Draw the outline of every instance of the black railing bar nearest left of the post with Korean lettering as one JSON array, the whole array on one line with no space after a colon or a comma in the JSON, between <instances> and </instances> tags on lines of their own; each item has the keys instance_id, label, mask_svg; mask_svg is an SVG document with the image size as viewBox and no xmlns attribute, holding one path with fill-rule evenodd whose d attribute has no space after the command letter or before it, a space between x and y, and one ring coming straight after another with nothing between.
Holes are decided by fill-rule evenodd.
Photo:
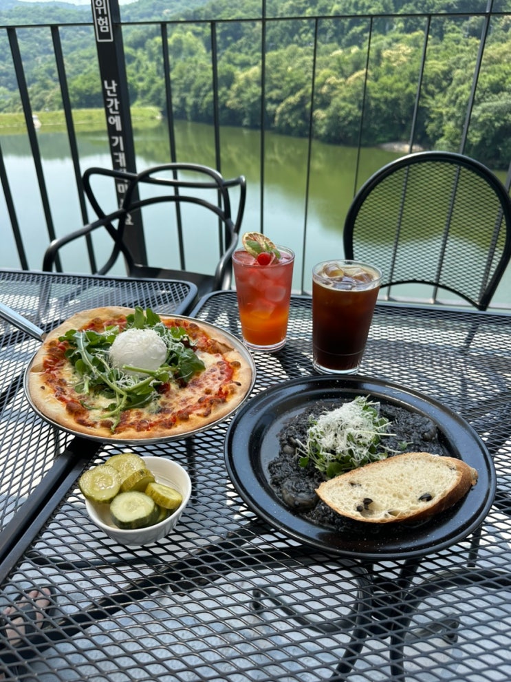
<instances>
[{"instance_id":1,"label":"black railing bar nearest left of the post with Korean lettering","mask_svg":"<svg viewBox=\"0 0 511 682\"><path fill-rule=\"evenodd\" d=\"M71 152L74 178L76 180L78 202L80 204L82 221L84 224L86 224L89 222L89 217L87 215L87 204L85 202L85 193L83 191L83 180L82 173L80 170L80 155L78 153L78 144L76 142L76 133L74 130L74 122L71 113L71 101L69 100L69 89L67 87L67 77L65 72L64 56L62 52L61 34L59 32L58 26L52 26L52 43L58 74L58 85L61 88L64 118L67 129L67 139L69 140L69 151ZM96 273L98 270L98 266L96 264L96 255L94 254L94 246L92 245L91 235L87 235L85 237L85 242L87 244L87 255L89 256L91 272Z\"/></svg>"}]
</instances>

